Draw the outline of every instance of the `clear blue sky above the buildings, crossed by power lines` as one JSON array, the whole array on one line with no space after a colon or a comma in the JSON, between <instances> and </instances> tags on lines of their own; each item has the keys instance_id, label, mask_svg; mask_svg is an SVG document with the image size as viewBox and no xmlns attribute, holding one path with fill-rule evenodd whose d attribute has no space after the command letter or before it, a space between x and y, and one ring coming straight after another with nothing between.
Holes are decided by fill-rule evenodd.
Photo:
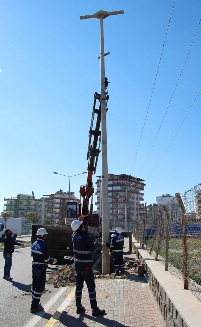
<instances>
[{"instance_id":1,"label":"clear blue sky above the buildings, crossed by power lines","mask_svg":"<svg viewBox=\"0 0 201 327\"><path fill-rule=\"evenodd\" d=\"M87 168L93 94L100 92L99 21L80 15L124 10L104 20L108 172L129 174L149 104L173 1L1 1L0 210L3 198L68 190ZM176 0L144 133L131 174L147 178L201 87L201 26L155 146L140 175L193 35L200 1ZM145 201L200 182L200 103L145 181ZM100 156L101 159L101 156ZM101 174L101 160L96 175ZM79 197L86 175L71 179ZM95 184L96 178L93 182Z\"/></svg>"}]
</instances>

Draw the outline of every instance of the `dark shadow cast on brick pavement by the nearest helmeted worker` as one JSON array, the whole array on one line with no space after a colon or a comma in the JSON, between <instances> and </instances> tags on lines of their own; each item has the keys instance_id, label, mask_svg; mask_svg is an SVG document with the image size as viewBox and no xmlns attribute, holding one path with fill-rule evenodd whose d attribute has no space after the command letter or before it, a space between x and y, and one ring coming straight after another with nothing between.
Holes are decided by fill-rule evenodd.
<instances>
[{"instance_id":1,"label":"dark shadow cast on brick pavement by the nearest helmeted worker","mask_svg":"<svg viewBox=\"0 0 201 327\"><path fill-rule=\"evenodd\" d=\"M118 327L129 327L128 325L123 325L121 324L119 321L117 320L113 320L113 319L108 319L105 318L107 314L105 314L104 316L90 316L87 315L85 313L81 314L79 318L75 318L72 317L70 315L68 315L68 313L66 311L64 311L60 318L58 319L64 326L70 326L71 323L73 323L73 325L75 326L88 326L88 324L86 324L83 319L87 318L90 319L90 323L92 322L97 322L98 324L102 324L103 326L118 326Z\"/></svg>"}]
</instances>

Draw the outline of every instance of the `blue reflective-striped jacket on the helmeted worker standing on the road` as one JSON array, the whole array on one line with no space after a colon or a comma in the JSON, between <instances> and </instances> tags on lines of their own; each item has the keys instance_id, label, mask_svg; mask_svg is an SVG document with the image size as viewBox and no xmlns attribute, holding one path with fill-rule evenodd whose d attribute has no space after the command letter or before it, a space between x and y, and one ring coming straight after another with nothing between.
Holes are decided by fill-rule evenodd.
<instances>
[{"instance_id":1,"label":"blue reflective-striped jacket on the helmeted worker standing on the road","mask_svg":"<svg viewBox=\"0 0 201 327\"><path fill-rule=\"evenodd\" d=\"M32 267L43 266L45 263L52 263L53 258L49 256L49 250L46 241L37 238L37 240L31 245L31 256L33 258Z\"/></svg>"}]
</instances>

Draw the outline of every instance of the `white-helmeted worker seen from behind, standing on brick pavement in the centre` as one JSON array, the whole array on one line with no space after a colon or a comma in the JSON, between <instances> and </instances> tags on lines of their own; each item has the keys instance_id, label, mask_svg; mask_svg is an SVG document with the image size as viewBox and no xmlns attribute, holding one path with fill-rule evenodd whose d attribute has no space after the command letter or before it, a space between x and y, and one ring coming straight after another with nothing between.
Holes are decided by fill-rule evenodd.
<instances>
[{"instance_id":1,"label":"white-helmeted worker seen from behind, standing on brick pavement in the centre","mask_svg":"<svg viewBox=\"0 0 201 327\"><path fill-rule=\"evenodd\" d=\"M105 310L100 310L97 306L96 285L92 270L92 252L96 250L97 240L94 243L92 238L85 232L85 227L82 225L82 221L74 220L71 224L71 228L73 230L72 241L74 250L74 267L76 271L75 305L77 306L77 313L85 311L81 304L82 288L85 281L89 292L92 315L104 315Z\"/></svg>"}]
</instances>

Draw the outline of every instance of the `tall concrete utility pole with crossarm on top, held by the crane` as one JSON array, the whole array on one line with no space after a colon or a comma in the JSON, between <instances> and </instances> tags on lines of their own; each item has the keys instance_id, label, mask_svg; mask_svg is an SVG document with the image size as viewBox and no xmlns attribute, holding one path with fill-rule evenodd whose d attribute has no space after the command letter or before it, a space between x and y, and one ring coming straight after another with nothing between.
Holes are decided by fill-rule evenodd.
<instances>
[{"instance_id":1,"label":"tall concrete utility pole with crossarm on top, held by the crane","mask_svg":"<svg viewBox=\"0 0 201 327\"><path fill-rule=\"evenodd\" d=\"M109 243L109 210L108 210L108 171L107 171L107 129L106 129L106 94L105 94L105 61L104 57L104 37L103 19L111 16L123 14L120 11L100 10L94 15L80 16L80 19L98 18L100 19L100 81L101 81L101 157L102 157L102 242ZM106 247L102 250L102 274L110 273L110 257Z\"/></svg>"}]
</instances>

